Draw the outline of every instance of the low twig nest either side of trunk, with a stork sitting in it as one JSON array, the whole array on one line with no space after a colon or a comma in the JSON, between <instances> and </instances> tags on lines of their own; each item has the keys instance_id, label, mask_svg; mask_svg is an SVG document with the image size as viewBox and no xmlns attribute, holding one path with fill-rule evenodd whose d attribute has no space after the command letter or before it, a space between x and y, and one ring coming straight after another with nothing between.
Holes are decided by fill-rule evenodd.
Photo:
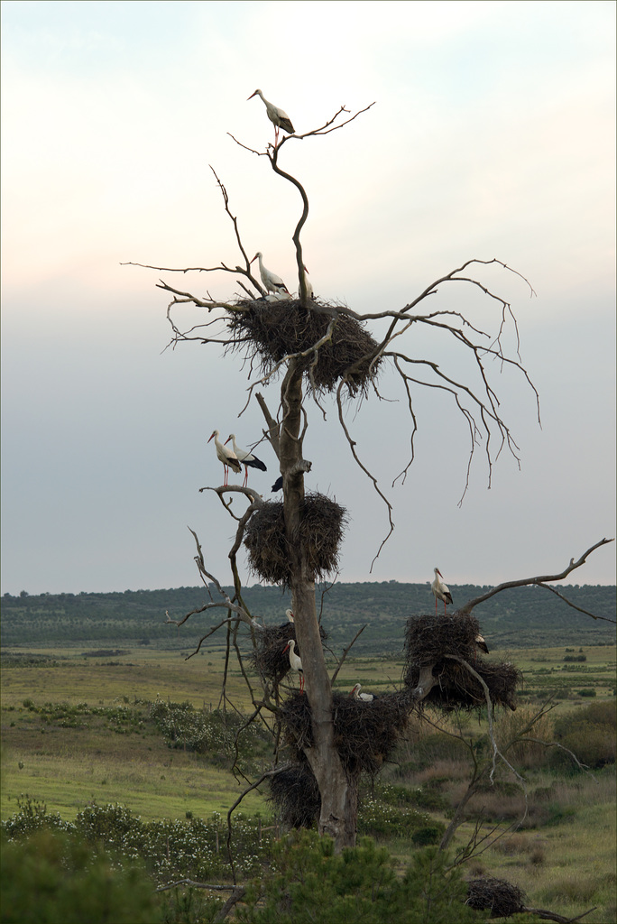
<instances>
[{"instance_id":1,"label":"low twig nest either side of trunk, with a stork sitting in it","mask_svg":"<svg viewBox=\"0 0 617 924\"><path fill-rule=\"evenodd\" d=\"M349 775L379 772L405 731L411 708L407 690L382 693L371 702L333 692L334 744ZM285 699L281 724L285 743L295 748L296 760L306 760L302 748L313 742L306 694L294 693Z\"/></svg>"}]
</instances>

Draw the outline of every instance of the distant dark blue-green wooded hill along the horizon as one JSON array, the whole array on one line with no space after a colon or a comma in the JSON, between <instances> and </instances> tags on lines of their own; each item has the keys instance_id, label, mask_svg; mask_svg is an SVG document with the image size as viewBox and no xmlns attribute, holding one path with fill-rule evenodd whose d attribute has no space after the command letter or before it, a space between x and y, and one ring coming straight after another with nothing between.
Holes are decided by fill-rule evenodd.
<instances>
[{"instance_id":1,"label":"distant dark blue-green wooded hill along the horizon","mask_svg":"<svg viewBox=\"0 0 617 924\"><path fill-rule=\"evenodd\" d=\"M230 589L227 589L230 592ZM454 604L462 603L488 587L470 584L451 586ZM590 613L615 618L614 586L578 584L560 586L576 606ZM251 614L265 623L284 622L289 597L281 590L255 585L243 591ZM216 600L216 591L212 588ZM178 619L209 602L203 587L175 590L125 590L116 593L60 593L2 600L1 638L10 646L47 647L104 644L152 645L157 648L190 649L225 616L224 609L194 614L178 631L165 625L165 611ZM318 602L318 606L320 602ZM341 650L365 623L354 646L356 655L396 655L403 646L405 621L410 615L431 613L434 601L429 583L398 581L335 584L322 598L322 623L329 646ZM591 619L560 601L548 590L525 587L504 590L474 611L491 648L526 648L558 645L612 644L615 626ZM213 646L223 636L212 639Z\"/></svg>"}]
</instances>

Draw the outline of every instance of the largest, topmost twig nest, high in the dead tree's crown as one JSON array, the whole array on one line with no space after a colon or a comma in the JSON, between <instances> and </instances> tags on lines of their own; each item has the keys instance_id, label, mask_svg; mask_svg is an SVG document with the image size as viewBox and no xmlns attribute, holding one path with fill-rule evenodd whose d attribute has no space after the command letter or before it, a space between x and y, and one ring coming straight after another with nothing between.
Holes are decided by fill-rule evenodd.
<instances>
[{"instance_id":1,"label":"largest, topmost twig nest, high in the dead tree's crown","mask_svg":"<svg viewBox=\"0 0 617 924\"><path fill-rule=\"evenodd\" d=\"M304 359L305 370L316 391L332 392L345 379L350 397L368 394L381 359L371 367L379 345L362 322L339 314L331 339L315 351L310 348L327 333L335 306L328 306L328 311L319 310L318 305L307 310L297 298L274 302L245 299L238 306L247 310L234 311L227 322L235 335L231 349L242 350L251 361L259 359L261 372L272 371L289 354L310 350Z\"/></svg>"}]
</instances>

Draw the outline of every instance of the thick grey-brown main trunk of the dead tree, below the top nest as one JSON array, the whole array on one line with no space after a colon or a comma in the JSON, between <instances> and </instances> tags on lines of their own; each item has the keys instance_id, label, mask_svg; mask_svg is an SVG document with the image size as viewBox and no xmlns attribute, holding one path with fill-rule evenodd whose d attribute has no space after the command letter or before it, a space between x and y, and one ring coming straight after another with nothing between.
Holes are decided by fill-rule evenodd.
<instances>
[{"instance_id":1,"label":"thick grey-brown main trunk of the dead tree, below the top nest","mask_svg":"<svg viewBox=\"0 0 617 924\"><path fill-rule=\"evenodd\" d=\"M315 606L315 577L298 541L304 472L302 461L302 370L292 360L282 386L284 408L280 435L284 523L291 571L296 638L302 657L306 695L312 716L313 746L305 754L321 795L319 831L334 840L335 849L356 844L357 780L348 780L334 745L333 698L321 647Z\"/></svg>"}]
</instances>

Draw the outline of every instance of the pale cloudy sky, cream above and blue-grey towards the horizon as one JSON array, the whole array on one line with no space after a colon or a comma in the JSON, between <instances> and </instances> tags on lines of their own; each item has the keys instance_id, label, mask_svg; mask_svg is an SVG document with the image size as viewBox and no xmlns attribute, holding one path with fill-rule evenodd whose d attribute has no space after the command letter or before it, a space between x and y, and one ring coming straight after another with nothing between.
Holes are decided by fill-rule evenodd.
<instances>
[{"instance_id":1,"label":"pale cloudy sky, cream above and blue-grey towards the horizon","mask_svg":"<svg viewBox=\"0 0 617 924\"><path fill-rule=\"evenodd\" d=\"M257 87L317 128L341 104L375 105L347 128L285 144L309 195L303 234L316 293L358 312L400 309L475 257L512 303L521 376L490 366L521 450L487 490L483 444L469 491L464 421L415 395L417 461L402 485L409 419L393 376L349 426L393 504L308 405L311 490L344 505L341 580L494 584L558 572L615 535L614 37L612 2L12 2L2 4L2 592L197 584L194 545L229 582L235 524L204 485L223 468L214 428L260 438L248 370L216 346L164 347L160 277L231 298L235 277L159 266L239 261L209 164L247 250L293 287L296 190L260 150L272 126ZM439 304L438 304L439 303ZM460 284L429 309L497 329L490 299ZM176 321L200 322L198 310ZM372 329L372 328L371 328ZM513 347L512 338L509 340ZM444 342L407 351L463 374ZM276 407L276 384L266 396ZM270 496L278 476L250 484ZM239 481L240 479L232 480ZM237 504L237 502L236 502ZM614 583L614 546L572 583ZM245 577L246 569L243 571ZM254 582L248 577L248 583Z\"/></svg>"}]
</instances>

